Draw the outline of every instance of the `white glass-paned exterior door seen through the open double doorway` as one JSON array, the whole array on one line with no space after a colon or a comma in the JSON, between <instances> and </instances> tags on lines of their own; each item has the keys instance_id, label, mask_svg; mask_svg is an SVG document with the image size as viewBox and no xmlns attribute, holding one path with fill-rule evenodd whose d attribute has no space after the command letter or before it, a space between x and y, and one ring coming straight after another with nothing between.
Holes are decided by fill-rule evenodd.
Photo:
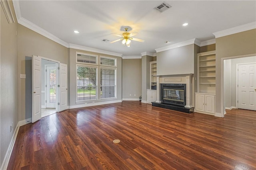
<instances>
[{"instance_id":1,"label":"white glass-paned exterior door seen through the open double doorway","mask_svg":"<svg viewBox=\"0 0 256 170\"><path fill-rule=\"evenodd\" d=\"M46 65L46 108L56 107L56 65Z\"/></svg>"}]
</instances>

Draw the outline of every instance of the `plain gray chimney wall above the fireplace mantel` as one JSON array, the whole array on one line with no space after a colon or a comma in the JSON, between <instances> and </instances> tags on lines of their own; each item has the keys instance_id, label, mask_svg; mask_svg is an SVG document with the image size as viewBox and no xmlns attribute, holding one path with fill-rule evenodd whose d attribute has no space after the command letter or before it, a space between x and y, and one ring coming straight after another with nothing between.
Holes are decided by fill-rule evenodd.
<instances>
[{"instance_id":1,"label":"plain gray chimney wall above the fireplace mantel","mask_svg":"<svg viewBox=\"0 0 256 170\"><path fill-rule=\"evenodd\" d=\"M194 44L157 53L157 75L194 74Z\"/></svg>"}]
</instances>

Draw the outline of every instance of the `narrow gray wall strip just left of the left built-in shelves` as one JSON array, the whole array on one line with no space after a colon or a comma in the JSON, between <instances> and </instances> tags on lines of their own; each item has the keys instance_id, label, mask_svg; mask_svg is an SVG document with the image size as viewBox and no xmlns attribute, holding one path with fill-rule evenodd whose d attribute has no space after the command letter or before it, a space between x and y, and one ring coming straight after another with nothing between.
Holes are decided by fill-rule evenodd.
<instances>
[{"instance_id":1,"label":"narrow gray wall strip just left of the left built-in shelves","mask_svg":"<svg viewBox=\"0 0 256 170\"><path fill-rule=\"evenodd\" d=\"M153 61L153 57L145 55L141 59L141 71L142 71L142 84L141 84L141 96L142 101L147 101L147 89L150 89L150 61Z\"/></svg>"}]
</instances>

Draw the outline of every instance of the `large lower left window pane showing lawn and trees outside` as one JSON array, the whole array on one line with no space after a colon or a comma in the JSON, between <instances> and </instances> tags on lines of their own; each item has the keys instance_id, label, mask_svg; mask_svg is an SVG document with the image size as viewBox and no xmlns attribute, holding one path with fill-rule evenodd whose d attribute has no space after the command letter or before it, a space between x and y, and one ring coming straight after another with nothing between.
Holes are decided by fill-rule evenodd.
<instances>
[{"instance_id":1,"label":"large lower left window pane showing lawn and trees outside","mask_svg":"<svg viewBox=\"0 0 256 170\"><path fill-rule=\"evenodd\" d=\"M97 99L97 68L77 66L77 101Z\"/></svg>"}]
</instances>

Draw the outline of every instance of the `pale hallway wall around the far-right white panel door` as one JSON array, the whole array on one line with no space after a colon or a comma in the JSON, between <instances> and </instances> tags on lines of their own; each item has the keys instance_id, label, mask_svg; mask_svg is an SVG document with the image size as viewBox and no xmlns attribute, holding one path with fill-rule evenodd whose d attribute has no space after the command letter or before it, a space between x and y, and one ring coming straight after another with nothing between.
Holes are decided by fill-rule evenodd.
<instances>
[{"instance_id":1,"label":"pale hallway wall around the far-right white panel door","mask_svg":"<svg viewBox=\"0 0 256 170\"><path fill-rule=\"evenodd\" d=\"M224 60L225 107L236 107L236 64L256 63L256 56Z\"/></svg>"}]
</instances>

